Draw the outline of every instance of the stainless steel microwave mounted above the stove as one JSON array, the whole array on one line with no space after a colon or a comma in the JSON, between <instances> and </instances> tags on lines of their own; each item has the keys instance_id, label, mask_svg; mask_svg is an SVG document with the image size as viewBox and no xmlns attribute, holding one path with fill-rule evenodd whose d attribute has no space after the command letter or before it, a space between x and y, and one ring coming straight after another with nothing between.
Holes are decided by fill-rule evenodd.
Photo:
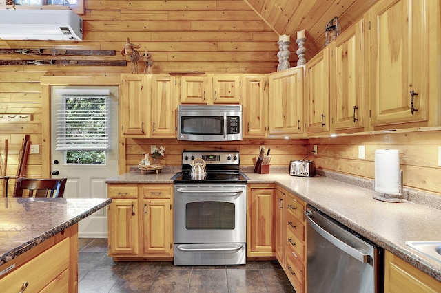
<instances>
[{"instance_id":1,"label":"stainless steel microwave mounted above the stove","mask_svg":"<svg viewBox=\"0 0 441 293\"><path fill-rule=\"evenodd\" d=\"M178 140L242 140L242 105L178 105Z\"/></svg>"}]
</instances>

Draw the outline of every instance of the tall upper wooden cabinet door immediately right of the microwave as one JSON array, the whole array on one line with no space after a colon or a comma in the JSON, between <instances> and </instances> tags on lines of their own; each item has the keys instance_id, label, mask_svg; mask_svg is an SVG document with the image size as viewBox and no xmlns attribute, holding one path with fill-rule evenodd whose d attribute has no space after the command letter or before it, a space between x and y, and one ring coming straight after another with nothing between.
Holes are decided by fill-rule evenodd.
<instances>
[{"instance_id":1,"label":"tall upper wooden cabinet door immediately right of the microwave","mask_svg":"<svg viewBox=\"0 0 441 293\"><path fill-rule=\"evenodd\" d=\"M243 136L265 138L268 125L266 76L245 74L243 79Z\"/></svg>"}]
</instances>

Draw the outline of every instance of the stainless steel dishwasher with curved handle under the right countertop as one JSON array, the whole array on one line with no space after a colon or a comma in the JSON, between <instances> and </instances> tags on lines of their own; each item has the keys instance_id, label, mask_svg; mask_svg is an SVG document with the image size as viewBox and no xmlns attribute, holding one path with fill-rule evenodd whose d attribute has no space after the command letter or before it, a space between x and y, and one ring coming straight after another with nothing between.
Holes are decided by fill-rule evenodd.
<instances>
[{"instance_id":1,"label":"stainless steel dishwasher with curved handle under the right countertop","mask_svg":"<svg viewBox=\"0 0 441 293\"><path fill-rule=\"evenodd\" d=\"M313 206L306 215L307 292L383 292L384 250Z\"/></svg>"}]
</instances>

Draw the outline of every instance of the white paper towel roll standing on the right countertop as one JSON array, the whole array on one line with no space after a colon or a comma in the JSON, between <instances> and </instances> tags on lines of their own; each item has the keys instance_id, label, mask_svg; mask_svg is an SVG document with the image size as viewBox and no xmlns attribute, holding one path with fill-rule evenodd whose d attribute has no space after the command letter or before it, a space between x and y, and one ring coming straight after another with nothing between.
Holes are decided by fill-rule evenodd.
<instances>
[{"instance_id":1,"label":"white paper towel roll standing on the right countertop","mask_svg":"<svg viewBox=\"0 0 441 293\"><path fill-rule=\"evenodd\" d=\"M400 194L400 151L376 149L375 191L390 195Z\"/></svg>"}]
</instances>

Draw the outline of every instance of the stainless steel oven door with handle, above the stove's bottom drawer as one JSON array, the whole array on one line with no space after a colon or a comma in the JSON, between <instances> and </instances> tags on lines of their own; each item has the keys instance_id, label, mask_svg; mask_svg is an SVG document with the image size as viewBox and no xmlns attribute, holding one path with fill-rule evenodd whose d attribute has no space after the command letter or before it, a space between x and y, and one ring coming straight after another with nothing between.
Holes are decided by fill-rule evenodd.
<instances>
[{"instance_id":1,"label":"stainless steel oven door with handle, above the stove's bottom drawer","mask_svg":"<svg viewBox=\"0 0 441 293\"><path fill-rule=\"evenodd\" d=\"M245 243L247 188L174 185L174 243Z\"/></svg>"}]
</instances>

